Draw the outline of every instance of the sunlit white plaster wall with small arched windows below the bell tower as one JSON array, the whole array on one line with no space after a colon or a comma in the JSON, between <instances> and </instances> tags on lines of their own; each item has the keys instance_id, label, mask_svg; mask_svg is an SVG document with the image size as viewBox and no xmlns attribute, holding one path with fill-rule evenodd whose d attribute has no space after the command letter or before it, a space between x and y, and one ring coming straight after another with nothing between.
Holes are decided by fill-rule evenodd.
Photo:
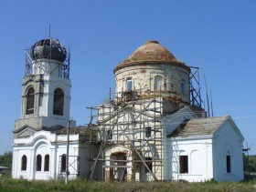
<instances>
[{"instance_id":1,"label":"sunlit white plaster wall with small arched windows below the bell tower","mask_svg":"<svg viewBox=\"0 0 256 192\"><path fill-rule=\"evenodd\" d=\"M79 168L78 161L76 161L79 154L79 136L69 136L69 178L77 177L77 170ZM42 169L36 170L37 154L42 156ZM49 171L44 171L44 157L49 155ZM50 178L59 177L59 156L67 154L67 136L57 136L50 134L48 131L39 131L34 136L27 138L14 139L14 157L13 157L13 178L23 177L28 180L41 179L48 180ZM23 155L27 156L27 170L21 171L21 158Z\"/></svg>"}]
</instances>

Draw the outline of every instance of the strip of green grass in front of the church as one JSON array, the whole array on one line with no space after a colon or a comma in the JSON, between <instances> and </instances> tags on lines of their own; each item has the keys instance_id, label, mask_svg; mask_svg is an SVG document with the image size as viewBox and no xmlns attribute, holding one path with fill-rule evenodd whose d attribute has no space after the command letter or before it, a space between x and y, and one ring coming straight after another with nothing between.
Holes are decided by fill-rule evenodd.
<instances>
[{"instance_id":1,"label":"strip of green grass in front of the church","mask_svg":"<svg viewBox=\"0 0 256 192\"><path fill-rule=\"evenodd\" d=\"M24 179L0 178L0 191L256 191L256 181L250 182L99 182L70 180L27 181Z\"/></svg>"}]
</instances>

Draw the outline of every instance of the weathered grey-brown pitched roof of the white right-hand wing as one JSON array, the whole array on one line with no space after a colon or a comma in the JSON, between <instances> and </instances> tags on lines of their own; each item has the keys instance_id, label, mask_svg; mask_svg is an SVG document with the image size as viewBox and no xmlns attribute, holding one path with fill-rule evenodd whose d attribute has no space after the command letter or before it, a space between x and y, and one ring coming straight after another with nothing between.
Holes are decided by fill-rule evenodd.
<instances>
[{"instance_id":1,"label":"weathered grey-brown pitched roof of the white right-hand wing","mask_svg":"<svg viewBox=\"0 0 256 192\"><path fill-rule=\"evenodd\" d=\"M230 119L230 116L193 118L178 126L168 137L212 135L228 119Z\"/></svg>"}]
</instances>

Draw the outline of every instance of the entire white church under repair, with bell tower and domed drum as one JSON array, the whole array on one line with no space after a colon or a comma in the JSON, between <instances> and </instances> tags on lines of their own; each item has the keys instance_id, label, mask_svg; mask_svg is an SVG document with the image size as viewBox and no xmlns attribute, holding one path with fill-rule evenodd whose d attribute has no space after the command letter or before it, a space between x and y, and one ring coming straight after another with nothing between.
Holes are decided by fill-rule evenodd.
<instances>
[{"instance_id":1,"label":"entire white church under repair, with bell tower and domed drum","mask_svg":"<svg viewBox=\"0 0 256 192\"><path fill-rule=\"evenodd\" d=\"M147 41L114 69L115 91L90 106L91 121L69 119L70 54L47 38L27 53L12 176L189 182L243 179L242 142L230 116L208 116L197 67Z\"/></svg>"}]
</instances>

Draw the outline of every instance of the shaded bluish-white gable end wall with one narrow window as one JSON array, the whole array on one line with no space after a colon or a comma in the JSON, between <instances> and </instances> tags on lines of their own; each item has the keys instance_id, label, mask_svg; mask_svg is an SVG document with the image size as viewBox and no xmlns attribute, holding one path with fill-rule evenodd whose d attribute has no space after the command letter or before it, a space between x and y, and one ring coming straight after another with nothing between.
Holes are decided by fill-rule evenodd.
<instances>
[{"instance_id":1,"label":"shaded bluish-white gable end wall with one narrow window","mask_svg":"<svg viewBox=\"0 0 256 192\"><path fill-rule=\"evenodd\" d=\"M215 133L214 178L218 181L239 181L243 179L242 140L240 131L231 121L226 121ZM230 156L230 171L227 170L227 156Z\"/></svg>"}]
</instances>

